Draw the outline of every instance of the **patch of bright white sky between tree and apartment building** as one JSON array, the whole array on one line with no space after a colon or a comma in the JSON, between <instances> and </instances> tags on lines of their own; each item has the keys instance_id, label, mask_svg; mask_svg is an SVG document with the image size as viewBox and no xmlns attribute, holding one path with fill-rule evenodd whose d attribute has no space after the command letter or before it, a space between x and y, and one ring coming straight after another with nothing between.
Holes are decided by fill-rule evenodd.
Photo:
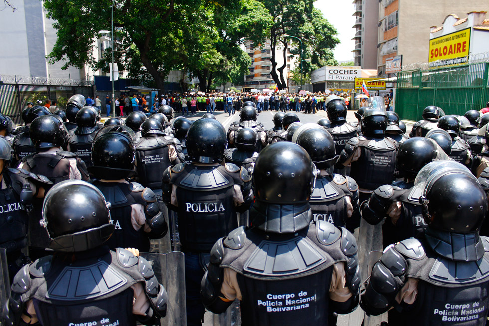
<instances>
[{"instance_id":1,"label":"patch of bright white sky between tree and apartment building","mask_svg":"<svg viewBox=\"0 0 489 326\"><path fill-rule=\"evenodd\" d=\"M353 61L353 48L355 36L353 25L355 17L353 14L353 0L318 0L314 6L321 10L324 17L336 28L341 41L334 49L334 58L340 61Z\"/></svg>"}]
</instances>

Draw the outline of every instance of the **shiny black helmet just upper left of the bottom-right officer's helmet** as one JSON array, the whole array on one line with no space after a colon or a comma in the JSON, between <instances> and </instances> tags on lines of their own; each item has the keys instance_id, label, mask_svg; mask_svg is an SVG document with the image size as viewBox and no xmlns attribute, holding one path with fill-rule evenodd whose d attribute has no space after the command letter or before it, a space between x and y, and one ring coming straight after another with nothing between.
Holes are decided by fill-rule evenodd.
<instances>
[{"instance_id":1,"label":"shiny black helmet just upper left of the bottom-right officer's helmet","mask_svg":"<svg viewBox=\"0 0 489 326\"><path fill-rule=\"evenodd\" d=\"M415 178L426 164L439 156L436 143L425 137L406 139L397 151L396 170L399 177Z\"/></svg>"}]
</instances>

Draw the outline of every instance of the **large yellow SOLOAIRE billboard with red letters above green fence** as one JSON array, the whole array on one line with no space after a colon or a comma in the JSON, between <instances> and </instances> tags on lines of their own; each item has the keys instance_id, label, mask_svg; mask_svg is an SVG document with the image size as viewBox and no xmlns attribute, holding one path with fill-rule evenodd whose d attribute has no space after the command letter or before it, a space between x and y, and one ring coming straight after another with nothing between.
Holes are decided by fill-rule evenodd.
<instances>
[{"instance_id":1,"label":"large yellow SOLOAIRE billboard with red letters above green fence","mask_svg":"<svg viewBox=\"0 0 489 326\"><path fill-rule=\"evenodd\" d=\"M469 56L470 39L470 28L430 39L428 56L430 66L439 67L466 63ZM432 64L435 61L438 62Z\"/></svg>"}]
</instances>

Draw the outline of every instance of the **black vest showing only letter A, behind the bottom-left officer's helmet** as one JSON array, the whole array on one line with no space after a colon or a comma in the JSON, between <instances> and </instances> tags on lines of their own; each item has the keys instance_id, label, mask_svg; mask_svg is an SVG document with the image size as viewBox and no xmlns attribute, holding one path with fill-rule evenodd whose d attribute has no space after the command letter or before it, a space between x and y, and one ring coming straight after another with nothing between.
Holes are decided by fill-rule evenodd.
<instances>
[{"instance_id":1,"label":"black vest showing only letter A, behind the bottom-left officer's helmet","mask_svg":"<svg viewBox=\"0 0 489 326\"><path fill-rule=\"evenodd\" d=\"M143 231L144 226L136 231L131 223L131 205L147 204L141 197L144 188L135 182L129 184L96 180L90 182L100 189L105 199L110 202L110 216L115 231L107 240L107 246L111 249L137 248L141 252L148 252L150 245L148 236Z\"/></svg>"}]
</instances>

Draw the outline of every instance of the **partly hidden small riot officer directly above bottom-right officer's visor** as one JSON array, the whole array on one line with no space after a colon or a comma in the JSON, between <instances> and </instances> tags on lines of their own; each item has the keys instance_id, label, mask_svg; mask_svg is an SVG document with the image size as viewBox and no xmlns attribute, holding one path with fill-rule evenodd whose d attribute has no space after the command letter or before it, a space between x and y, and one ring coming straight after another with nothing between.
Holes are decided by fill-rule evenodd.
<instances>
[{"instance_id":1,"label":"partly hidden small riot officer directly above bottom-right officer's visor","mask_svg":"<svg viewBox=\"0 0 489 326\"><path fill-rule=\"evenodd\" d=\"M445 115L438 120L438 127L448 132L452 138L450 158L470 168L471 151L469 145L459 137L460 124L456 117Z\"/></svg>"}]
</instances>

